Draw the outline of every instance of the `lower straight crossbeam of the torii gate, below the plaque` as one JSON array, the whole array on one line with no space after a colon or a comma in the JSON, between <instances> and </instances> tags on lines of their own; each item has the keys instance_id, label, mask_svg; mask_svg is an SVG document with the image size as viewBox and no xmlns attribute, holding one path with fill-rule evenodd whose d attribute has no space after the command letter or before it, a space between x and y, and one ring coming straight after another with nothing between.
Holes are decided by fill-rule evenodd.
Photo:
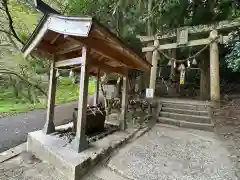
<instances>
[{"instance_id":1,"label":"lower straight crossbeam of the torii gate, below the plaque","mask_svg":"<svg viewBox=\"0 0 240 180\"><path fill-rule=\"evenodd\" d=\"M191 46L201 46L201 45L206 45L209 44L211 40L209 38L207 39L198 39L198 40L191 40L189 41L185 47L191 47ZM171 43L171 44L163 44L159 46L159 50L166 50L166 49L176 49L178 47L183 47L183 46L178 46L177 43ZM150 46L150 47L144 47L142 48L142 52L151 52L155 49L155 46Z\"/></svg>"}]
</instances>

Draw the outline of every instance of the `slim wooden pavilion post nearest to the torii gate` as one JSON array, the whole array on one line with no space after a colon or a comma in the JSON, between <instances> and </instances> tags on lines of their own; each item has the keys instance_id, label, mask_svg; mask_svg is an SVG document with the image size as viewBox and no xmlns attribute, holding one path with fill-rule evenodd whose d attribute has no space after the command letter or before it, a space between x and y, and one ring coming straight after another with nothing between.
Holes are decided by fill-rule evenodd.
<instances>
[{"instance_id":1,"label":"slim wooden pavilion post nearest to the torii gate","mask_svg":"<svg viewBox=\"0 0 240 180\"><path fill-rule=\"evenodd\" d=\"M122 89L122 107L121 107L121 119L120 128L122 130L127 129L127 107L128 107L128 74L123 77L123 89Z\"/></svg>"}]
</instances>

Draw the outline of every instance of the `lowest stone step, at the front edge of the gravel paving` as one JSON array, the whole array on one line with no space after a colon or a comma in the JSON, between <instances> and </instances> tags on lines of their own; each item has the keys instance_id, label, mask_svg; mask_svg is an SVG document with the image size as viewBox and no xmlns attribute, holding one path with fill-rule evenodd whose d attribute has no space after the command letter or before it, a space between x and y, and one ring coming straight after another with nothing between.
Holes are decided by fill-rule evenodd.
<instances>
[{"instance_id":1,"label":"lowest stone step, at the front edge of the gravel paving","mask_svg":"<svg viewBox=\"0 0 240 180\"><path fill-rule=\"evenodd\" d=\"M158 122L163 123L163 124L169 124L169 125L174 125L174 126L178 126L178 127L183 127L183 128L198 129L198 130L204 130L204 131L210 131L210 132L214 131L213 124L179 121L176 119L164 118L164 117L159 117Z\"/></svg>"}]
</instances>

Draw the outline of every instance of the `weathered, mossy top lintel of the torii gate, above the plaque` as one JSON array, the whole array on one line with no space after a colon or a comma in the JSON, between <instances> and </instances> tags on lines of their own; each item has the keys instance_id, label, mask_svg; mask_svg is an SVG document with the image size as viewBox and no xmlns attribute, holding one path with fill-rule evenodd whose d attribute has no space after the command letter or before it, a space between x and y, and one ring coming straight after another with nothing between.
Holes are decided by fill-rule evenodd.
<instances>
[{"instance_id":1,"label":"weathered, mossy top lintel of the torii gate, above the plaque","mask_svg":"<svg viewBox=\"0 0 240 180\"><path fill-rule=\"evenodd\" d=\"M212 30L233 30L237 27L240 26L240 18L236 18L234 20L226 20L226 21L220 21L218 23L214 23L211 25L198 25L198 26L185 26L179 28L179 30L182 29L188 29L189 34L199 34L199 33L210 33ZM140 41L142 42L149 42L149 41L154 41L154 39L173 39L177 36L177 28L168 30L167 33L162 34L162 35L157 35L157 36L137 36Z\"/></svg>"}]
</instances>

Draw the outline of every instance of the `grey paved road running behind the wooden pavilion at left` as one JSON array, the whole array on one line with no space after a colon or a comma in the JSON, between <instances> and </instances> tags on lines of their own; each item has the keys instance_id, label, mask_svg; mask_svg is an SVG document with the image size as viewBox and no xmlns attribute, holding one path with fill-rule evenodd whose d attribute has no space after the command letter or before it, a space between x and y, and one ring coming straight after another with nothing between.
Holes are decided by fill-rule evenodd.
<instances>
[{"instance_id":1,"label":"grey paved road running behind the wooden pavilion at left","mask_svg":"<svg viewBox=\"0 0 240 180\"><path fill-rule=\"evenodd\" d=\"M77 103L67 103L55 107L55 125L62 125L72 119ZM14 116L0 118L0 152L15 147L27 140L29 132L42 129L46 110L34 110Z\"/></svg>"}]
</instances>

